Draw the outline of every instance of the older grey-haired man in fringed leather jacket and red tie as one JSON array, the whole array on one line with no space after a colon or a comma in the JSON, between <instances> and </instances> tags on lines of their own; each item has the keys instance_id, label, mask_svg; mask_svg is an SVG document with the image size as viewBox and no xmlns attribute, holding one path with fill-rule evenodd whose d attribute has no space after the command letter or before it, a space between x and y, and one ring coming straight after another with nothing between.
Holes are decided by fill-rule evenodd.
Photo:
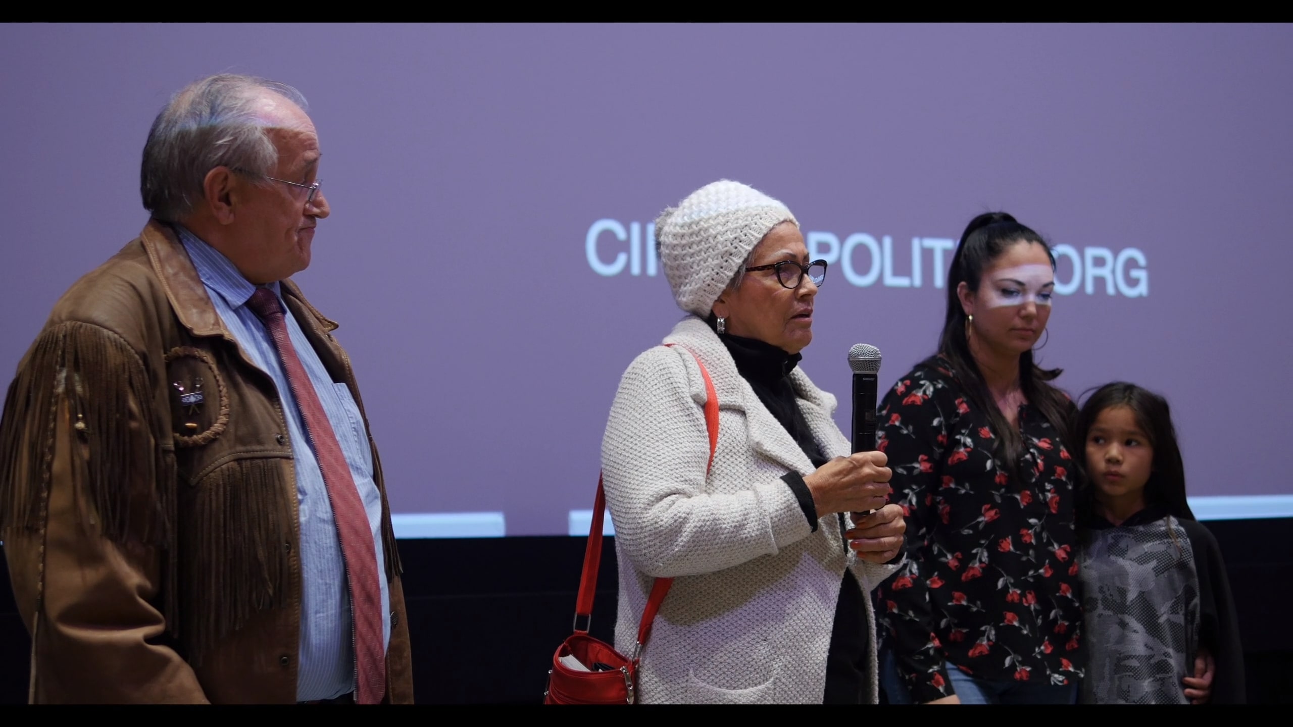
<instances>
[{"instance_id":1,"label":"older grey-haired man in fringed leather jacket and red tie","mask_svg":"<svg viewBox=\"0 0 1293 727\"><path fill-rule=\"evenodd\" d=\"M153 219L78 281L0 419L36 702L407 702L400 559L345 352L288 277L319 142L284 84L180 91Z\"/></svg>"}]
</instances>

